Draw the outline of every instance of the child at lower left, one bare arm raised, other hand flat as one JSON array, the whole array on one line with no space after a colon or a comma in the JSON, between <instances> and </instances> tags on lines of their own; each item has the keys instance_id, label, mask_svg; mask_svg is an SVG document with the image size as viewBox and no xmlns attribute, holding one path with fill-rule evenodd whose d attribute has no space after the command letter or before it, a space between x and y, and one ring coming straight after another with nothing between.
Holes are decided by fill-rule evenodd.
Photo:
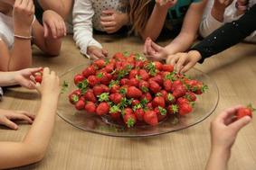
<instances>
[{"instance_id":1,"label":"child at lower left, one bare arm raised, other hand flat","mask_svg":"<svg viewBox=\"0 0 256 170\"><path fill-rule=\"evenodd\" d=\"M13 85L13 82L11 84ZM33 84L33 87L42 94L41 107L34 120L33 116L25 112L21 114L0 110L0 122L14 130L17 129L17 125L9 121L11 119L18 118L30 123L33 121L31 130L22 142L0 142L0 169L33 164L42 160L45 155L52 136L60 94L59 78L46 67L43 70L42 85Z\"/></svg>"}]
</instances>

